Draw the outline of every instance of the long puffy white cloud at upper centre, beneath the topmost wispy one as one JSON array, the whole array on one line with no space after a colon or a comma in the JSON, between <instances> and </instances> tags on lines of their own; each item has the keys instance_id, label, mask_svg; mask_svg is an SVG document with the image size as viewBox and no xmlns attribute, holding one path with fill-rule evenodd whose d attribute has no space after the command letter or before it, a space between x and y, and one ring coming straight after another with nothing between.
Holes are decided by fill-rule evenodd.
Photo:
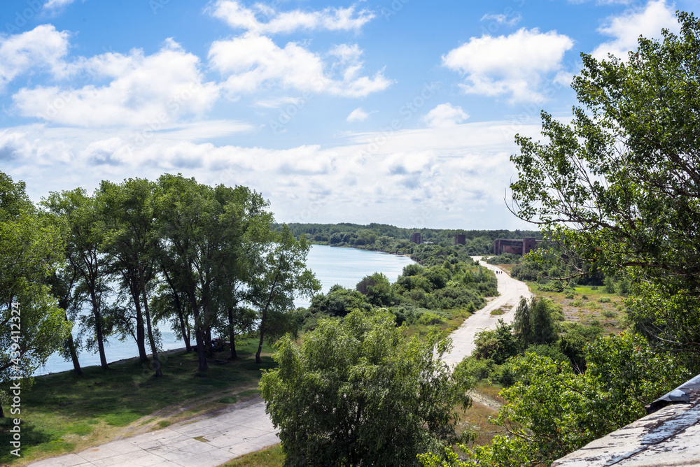
<instances>
[{"instance_id":1,"label":"long puffy white cloud at upper centre, beneath the topmost wispy one","mask_svg":"<svg viewBox=\"0 0 700 467\"><path fill-rule=\"evenodd\" d=\"M360 54L357 45L335 46L330 55L337 57L337 62L329 67L319 55L297 43L280 48L268 37L246 33L215 41L209 49L209 61L228 76L223 87L234 99L266 85L348 97L367 96L389 87L392 81L382 71L372 78L358 76L362 68ZM326 68L338 78L328 76Z\"/></svg>"}]
</instances>

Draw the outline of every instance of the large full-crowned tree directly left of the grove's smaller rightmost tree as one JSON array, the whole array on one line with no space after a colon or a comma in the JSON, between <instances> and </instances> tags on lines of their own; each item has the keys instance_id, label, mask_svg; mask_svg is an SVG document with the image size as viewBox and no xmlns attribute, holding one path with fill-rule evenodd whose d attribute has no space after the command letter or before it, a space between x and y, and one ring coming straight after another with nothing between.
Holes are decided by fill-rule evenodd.
<instances>
[{"instance_id":1,"label":"large full-crowned tree directly left of the grove's smaller rightmost tree","mask_svg":"<svg viewBox=\"0 0 700 467\"><path fill-rule=\"evenodd\" d=\"M260 245L272 224L267 206L246 187L209 187L182 175L158 179L154 215L163 273L170 278L172 298L184 295L191 307L202 371L208 366L212 327L228 321L235 332L230 312L245 312L237 303L252 280L251 268L262 262Z\"/></svg>"}]
</instances>

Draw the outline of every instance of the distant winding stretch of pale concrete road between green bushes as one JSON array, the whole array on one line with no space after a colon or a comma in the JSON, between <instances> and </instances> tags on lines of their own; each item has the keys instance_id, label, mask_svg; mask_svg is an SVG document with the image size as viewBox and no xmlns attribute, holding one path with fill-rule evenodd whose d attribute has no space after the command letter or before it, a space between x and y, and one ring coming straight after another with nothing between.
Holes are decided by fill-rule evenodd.
<instances>
[{"instance_id":1,"label":"distant winding stretch of pale concrete road between green bushes","mask_svg":"<svg viewBox=\"0 0 700 467\"><path fill-rule=\"evenodd\" d=\"M473 258L477 261L481 259L481 257ZM491 271L500 271L498 266L486 264L485 261L479 261L479 264L491 269ZM479 331L495 328L498 319L503 319L506 323L512 322L520 297L529 298L532 296L524 282L515 280L506 273L496 274L496 278L498 279L498 293L500 293L500 296L497 296L496 299L487 303L484 308L465 319L462 325L450 334L454 347L452 352L445 355L444 361L451 366L458 364L465 356L472 353L476 347L474 338ZM509 308L505 315L491 315L491 311L498 310L501 307Z\"/></svg>"}]
</instances>

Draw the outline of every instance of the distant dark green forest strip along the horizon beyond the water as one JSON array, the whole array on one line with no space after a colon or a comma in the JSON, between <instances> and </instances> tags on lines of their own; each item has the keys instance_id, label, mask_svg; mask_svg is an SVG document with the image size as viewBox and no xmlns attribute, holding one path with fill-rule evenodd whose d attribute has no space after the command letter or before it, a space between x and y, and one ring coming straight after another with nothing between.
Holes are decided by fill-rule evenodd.
<instances>
[{"instance_id":1,"label":"distant dark green forest strip along the horizon beyond the water","mask_svg":"<svg viewBox=\"0 0 700 467\"><path fill-rule=\"evenodd\" d=\"M491 254L493 240L496 238L542 238L539 231L530 230L460 230L460 229L402 229L388 224L287 224L295 237L305 235L307 240L317 245L356 247L363 250L375 250L396 254L416 253L411 235L420 232L423 243L454 246L457 234L465 235L466 254Z\"/></svg>"}]
</instances>

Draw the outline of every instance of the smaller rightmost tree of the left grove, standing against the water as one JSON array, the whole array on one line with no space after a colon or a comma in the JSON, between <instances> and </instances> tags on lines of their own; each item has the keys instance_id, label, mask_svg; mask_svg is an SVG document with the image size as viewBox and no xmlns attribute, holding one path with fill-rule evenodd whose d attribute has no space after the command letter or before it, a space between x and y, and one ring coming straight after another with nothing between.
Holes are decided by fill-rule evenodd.
<instances>
[{"instance_id":1,"label":"smaller rightmost tree of the left grove, standing against the water","mask_svg":"<svg viewBox=\"0 0 700 467\"><path fill-rule=\"evenodd\" d=\"M321 289L314 273L306 268L306 258L311 245L304 236L296 240L286 225L280 231L270 232L271 243L260 257L251 277L248 300L258 310L260 343L255 361L262 363L262 343L286 333L289 323L286 312L293 310L294 297L311 296ZM276 324L276 325L274 325Z\"/></svg>"}]
</instances>

